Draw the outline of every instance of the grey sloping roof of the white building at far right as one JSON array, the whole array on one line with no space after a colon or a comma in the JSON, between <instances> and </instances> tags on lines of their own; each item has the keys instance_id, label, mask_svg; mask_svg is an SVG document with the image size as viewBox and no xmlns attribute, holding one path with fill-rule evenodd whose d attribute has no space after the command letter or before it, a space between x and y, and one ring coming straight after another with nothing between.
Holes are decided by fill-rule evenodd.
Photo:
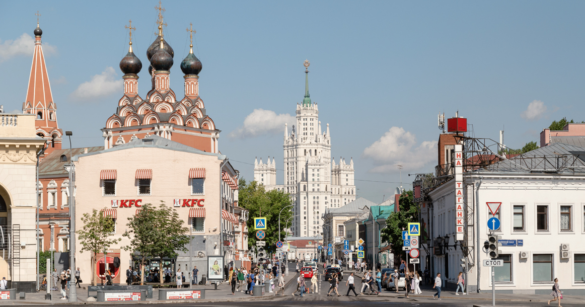
<instances>
[{"instance_id":1,"label":"grey sloping roof of the white building at far right","mask_svg":"<svg viewBox=\"0 0 585 307\"><path fill-rule=\"evenodd\" d=\"M481 168L480 172L585 173L585 148L553 143Z\"/></svg>"}]
</instances>

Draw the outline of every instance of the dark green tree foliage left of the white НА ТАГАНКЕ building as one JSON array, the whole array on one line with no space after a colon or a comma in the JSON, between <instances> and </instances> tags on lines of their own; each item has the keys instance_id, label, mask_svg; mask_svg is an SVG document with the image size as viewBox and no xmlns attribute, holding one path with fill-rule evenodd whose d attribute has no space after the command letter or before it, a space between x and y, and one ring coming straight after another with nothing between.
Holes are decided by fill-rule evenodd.
<instances>
[{"instance_id":1,"label":"dark green tree foliage left of the white \u041d\u0410 \u0422\u0410\u0413\u0410\u041d\u041a\u0415 building","mask_svg":"<svg viewBox=\"0 0 585 307\"><path fill-rule=\"evenodd\" d=\"M382 229L382 242L393 244L392 253L406 258L406 252L402 251L402 230L408 230L408 223L418 222L418 206L412 191L402 192L398 203L400 211L391 213Z\"/></svg>"}]
</instances>

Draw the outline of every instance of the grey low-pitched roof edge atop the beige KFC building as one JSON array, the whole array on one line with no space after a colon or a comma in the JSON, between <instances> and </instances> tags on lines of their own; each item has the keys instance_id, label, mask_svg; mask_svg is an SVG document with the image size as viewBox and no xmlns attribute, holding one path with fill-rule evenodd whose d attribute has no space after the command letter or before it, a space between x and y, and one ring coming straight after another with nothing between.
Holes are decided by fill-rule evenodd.
<instances>
[{"instance_id":1,"label":"grey low-pitched roof edge atop the beige KFC building","mask_svg":"<svg viewBox=\"0 0 585 307\"><path fill-rule=\"evenodd\" d=\"M221 153L208 153L206 151L202 151L202 150L198 150L195 149L193 147L178 143L178 142L174 142L171 141L169 139L165 139L164 137L160 137L160 136L149 136L149 137L145 137L142 140L135 140L132 142L128 142L122 145L118 145L115 147L112 147L111 149L106 149L106 150L100 150L100 151L95 151L93 153L87 153L87 154L78 154L77 156L73 157L73 161L77 161L78 157L85 157L85 156L92 156L94 154L101 154L101 153L109 153L111 151L116 151L116 150L125 150L125 149L132 149L132 148L158 148L158 149L166 149L166 150L175 150L175 151L184 151L187 153L196 153L196 154L204 154L207 156L216 156L218 157L219 160L224 160L226 158L226 156L224 156ZM104 147L101 147L102 149L104 149Z\"/></svg>"}]
</instances>

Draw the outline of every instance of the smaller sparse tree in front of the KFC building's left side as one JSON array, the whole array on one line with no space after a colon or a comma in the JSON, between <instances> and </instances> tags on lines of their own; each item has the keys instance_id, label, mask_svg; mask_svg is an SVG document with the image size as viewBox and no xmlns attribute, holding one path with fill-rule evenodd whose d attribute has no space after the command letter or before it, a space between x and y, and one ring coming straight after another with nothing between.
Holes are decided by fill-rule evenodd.
<instances>
[{"instance_id":1,"label":"smaller sparse tree in front of the KFC building's left side","mask_svg":"<svg viewBox=\"0 0 585 307\"><path fill-rule=\"evenodd\" d=\"M94 253L94 261L97 258L97 253L109 249L112 244L122 240L121 238L110 239L115 230L115 223L113 219L104 216L101 211L94 209L91 215L84 213L81 222L84 224L83 229L77 230L78 240L83 246L80 253L91 251ZM94 283L93 278L91 283Z\"/></svg>"}]
</instances>

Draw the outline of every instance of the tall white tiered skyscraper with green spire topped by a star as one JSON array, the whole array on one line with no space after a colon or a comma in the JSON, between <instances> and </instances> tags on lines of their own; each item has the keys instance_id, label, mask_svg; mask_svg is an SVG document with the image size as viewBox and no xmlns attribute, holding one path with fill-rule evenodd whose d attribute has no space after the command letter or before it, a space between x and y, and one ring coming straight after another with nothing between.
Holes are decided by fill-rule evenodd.
<instances>
[{"instance_id":1,"label":"tall white tiered skyscraper with green spire topped by a star","mask_svg":"<svg viewBox=\"0 0 585 307\"><path fill-rule=\"evenodd\" d=\"M309 61L305 61L305 98L297 104L297 124L289 133L284 126L284 184L276 184L276 162L254 161L254 180L267 190L290 193L293 206L293 236L321 235L325 208L340 208L356 199L353 160L331 158L329 124L322 131L319 109L309 98ZM330 230L330 229L328 229ZM335 232L336 230L333 229Z\"/></svg>"}]
</instances>

